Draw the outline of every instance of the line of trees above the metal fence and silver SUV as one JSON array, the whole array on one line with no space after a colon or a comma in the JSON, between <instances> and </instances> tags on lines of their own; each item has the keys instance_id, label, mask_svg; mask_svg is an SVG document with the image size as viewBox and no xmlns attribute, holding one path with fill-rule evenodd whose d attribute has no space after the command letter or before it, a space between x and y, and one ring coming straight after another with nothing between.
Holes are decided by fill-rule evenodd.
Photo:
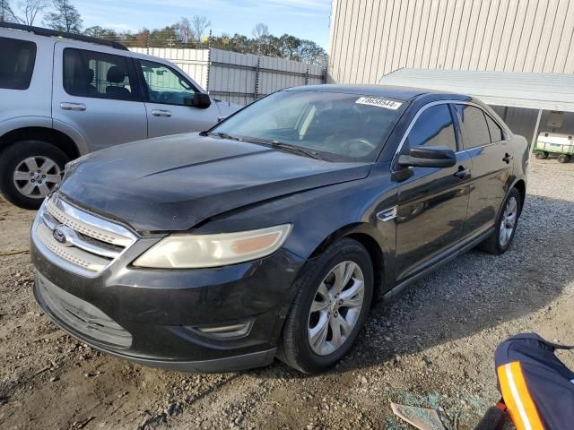
<instances>
[{"instance_id":1,"label":"line of trees above the metal fence and silver SUV","mask_svg":"<svg viewBox=\"0 0 574 430\"><path fill-rule=\"evenodd\" d=\"M0 22L37 25L39 17L43 16L41 23L49 29L115 40L126 47L215 47L241 54L275 56L310 64L323 65L326 61L325 49L312 40L290 34L274 36L264 23L258 23L250 37L239 33L213 36L209 30L211 21L202 15L181 17L178 22L162 29L117 32L100 26L83 29L82 16L71 0L21 0L18 6L18 9L14 9L11 0L0 0Z\"/></svg>"}]
</instances>

